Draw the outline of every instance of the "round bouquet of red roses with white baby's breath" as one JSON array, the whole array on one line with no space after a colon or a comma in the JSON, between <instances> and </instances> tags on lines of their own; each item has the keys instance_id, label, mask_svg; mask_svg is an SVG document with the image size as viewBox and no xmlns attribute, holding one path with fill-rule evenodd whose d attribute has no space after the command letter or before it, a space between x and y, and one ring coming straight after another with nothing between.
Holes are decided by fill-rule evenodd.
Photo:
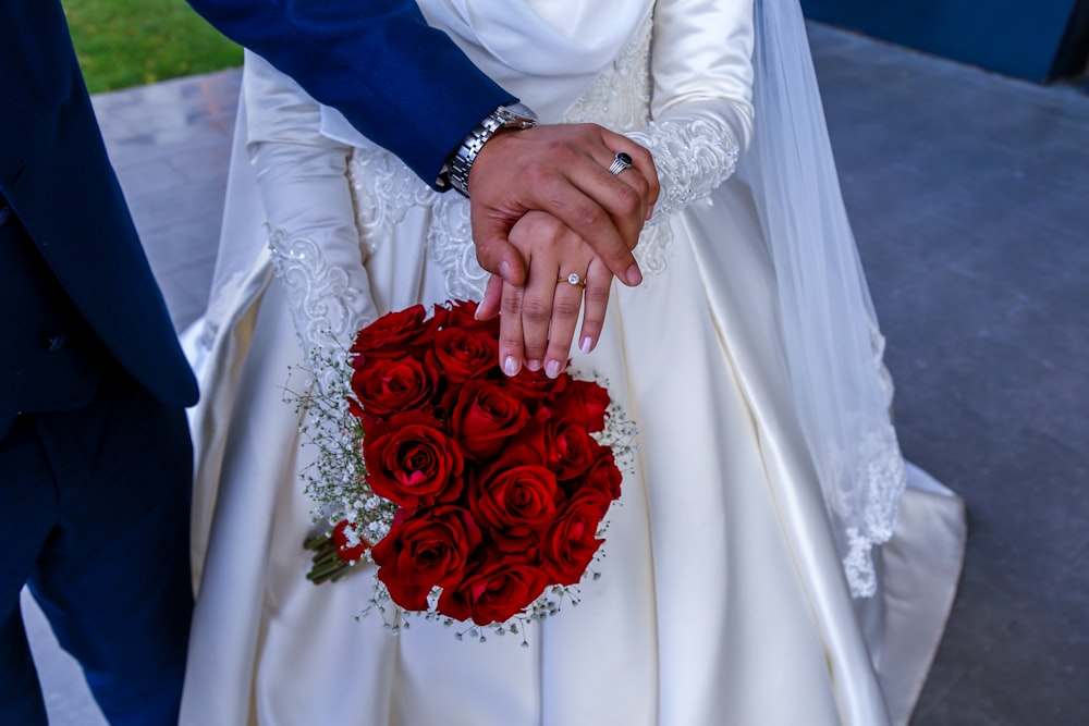
<instances>
[{"instance_id":1,"label":"round bouquet of red roses with white baby's breath","mask_svg":"<svg viewBox=\"0 0 1089 726\"><path fill-rule=\"evenodd\" d=\"M620 496L616 456L631 454L634 428L604 387L504 376L499 322L475 310L415 306L359 331L346 405L326 409L339 424L317 436L308 490L333 526L306 543L308 577L374 563L366 610L393 630L419 613L516 632L577 602Z\"/></svg>"}]
</instances>

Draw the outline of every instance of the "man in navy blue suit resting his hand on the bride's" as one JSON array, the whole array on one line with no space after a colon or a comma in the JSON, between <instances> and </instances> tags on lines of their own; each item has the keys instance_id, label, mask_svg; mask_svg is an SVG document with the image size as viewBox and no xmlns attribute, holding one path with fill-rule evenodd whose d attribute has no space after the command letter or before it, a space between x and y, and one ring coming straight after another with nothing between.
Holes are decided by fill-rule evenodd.
<instances>
[{"instance_id":1,"label":"man in navy blue suit resting his hand on the bride's","mask_svg":"<svg viewBox=\"0 0 1089 726\"><path fill-rule=\"evenodd\" d=\"M437 185L461 140L514 100L412 0L195 4ZM3 0L0 25L0 724L47 723L20 612L27 585L110 723L166 726L176 723L192 611L184 407L196 383L60 0ZM549 139L542 151L554 149ZM608 159L600 141L578 144ZM527 176L492 158L511 183L474 199L475 212L516 218L540 194L524 180L551 180L550 194L566 194L602 249L611 245L616 269L634 263L652 196L641 176L625 187L585 160ZM512 255L497 239L481 261L518 278Z\"/></svg>"}]
</instances>

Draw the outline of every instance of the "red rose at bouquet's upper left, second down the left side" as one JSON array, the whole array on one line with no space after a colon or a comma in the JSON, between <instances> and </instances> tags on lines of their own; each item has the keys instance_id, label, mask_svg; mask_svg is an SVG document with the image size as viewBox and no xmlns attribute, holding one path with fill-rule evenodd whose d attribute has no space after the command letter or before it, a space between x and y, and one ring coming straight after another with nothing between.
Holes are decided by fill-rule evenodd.
<instances>
[{"instance_id":1,"label":"red rose at bouquet's upper left, second down the left side","mask_svg":"<svg viewBox=\"0 0 1089 726\"><path fill-rule=\"evenodd\" d=\"M370 358L352 373L352 392L363 409L353 406L352 413L370 428L372 419L426 407L435 385L435 371L416 358Z\"/></svg>"}]
</instances>

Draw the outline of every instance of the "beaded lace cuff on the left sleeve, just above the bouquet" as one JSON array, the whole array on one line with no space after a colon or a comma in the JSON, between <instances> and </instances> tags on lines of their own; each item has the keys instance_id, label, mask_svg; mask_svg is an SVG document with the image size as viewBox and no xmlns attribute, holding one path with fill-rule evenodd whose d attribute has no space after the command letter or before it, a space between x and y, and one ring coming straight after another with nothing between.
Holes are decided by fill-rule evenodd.
<instances>
[{"instance_id":1,"label":"beaded lace cuff on the left sleeve, just above the bouquet","mask_svg":"<svg viewBox=\"0 0 1089 726\"><path fill-rule=\"evenodd\" d=\"M343 357L356 331L369 322L357 312L368 306L367 295L343 269L328 263L314 239L273 229L268 244L310 370L317 371L321 389L331 391L341 371L328 361Z\"/></svg>"}]
</instances>

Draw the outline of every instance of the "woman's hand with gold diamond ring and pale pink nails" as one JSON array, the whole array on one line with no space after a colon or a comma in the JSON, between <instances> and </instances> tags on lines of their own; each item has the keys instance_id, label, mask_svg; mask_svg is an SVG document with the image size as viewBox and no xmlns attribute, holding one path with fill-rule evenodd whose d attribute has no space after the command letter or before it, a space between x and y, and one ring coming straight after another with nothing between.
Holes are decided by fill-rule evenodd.
<instances>
[{"instance_id":1,"label":"woman's hand with gold diamond ring and pale pink nails","mask_svg":"<svg viewBox=\"0 0 1089 726\"><path fill-rule=\"evenodd\" d=\"M589 353L597 345L613 275L580 236L546 212L527 212L510 241L525 259L526 284L492 276L477 315L490 318L499 307L499 360L507 376L526 366L555 378L567 365L584 297L578 347Z\"/></svg>"}]
</instances>

